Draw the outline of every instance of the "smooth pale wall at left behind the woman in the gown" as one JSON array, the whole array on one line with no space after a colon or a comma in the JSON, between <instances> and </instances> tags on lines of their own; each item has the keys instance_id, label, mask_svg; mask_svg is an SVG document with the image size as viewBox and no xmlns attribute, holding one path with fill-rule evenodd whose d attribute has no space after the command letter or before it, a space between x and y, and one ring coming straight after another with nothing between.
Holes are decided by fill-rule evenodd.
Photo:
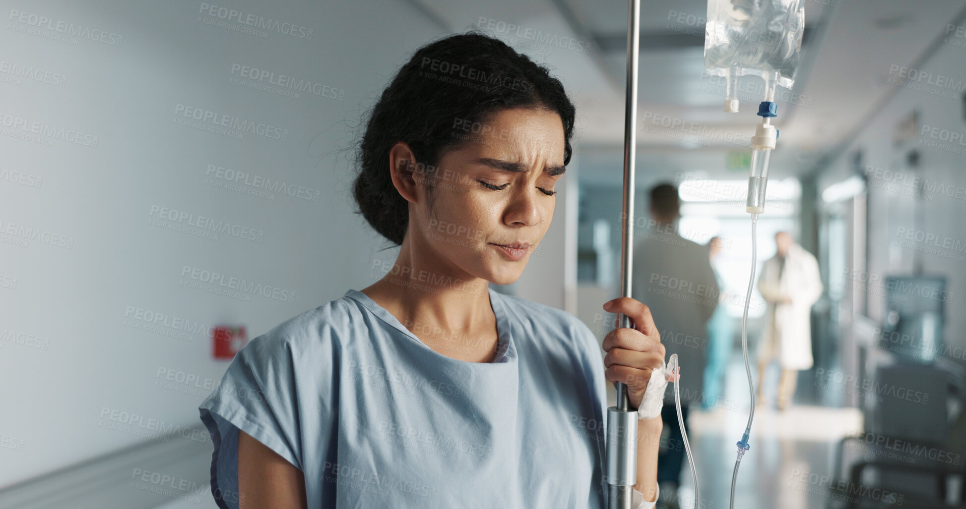
<instances>
[{"instance_id":1,"label":"smooth pale wall at left behind the woman in the gown","mask_svg":"<svg viewBox=\"0 0 966 509\"><path fill-rule=\"evenodd\" d=\"M208 4L280 24L267 37L207 24L224 20L197 1L16 1L2 13L0 486L159 428L200 424L197 406L227 366L211 358L210 326L245 325L255 337L367 286L381 276L373 261L392 259L377 253L384 242L353 213L349 153L336 149L350 144L365 107L440 28L404 2ZM52 21L41 25L41 16ZM64 36L60 22L90 32L75 43L51 39ZM312 37L283 34L289 25L281 23ZM102 33L105 42L96 40ZM344 93L331 99L328 88L317 89L296 99L247 88L230 82L234 64ZM287 136L236 139L181 126L190 119L178 115L179 104ZM33 128L42 133L22 139ZM206 175L210 164L301 186L309 199L226 189ZM261 241L154 226L155 206L250 228ZM185 267L294 297L241 292L240 300L188 288ZM130 308L200 332L146 330ZM167 381L162 369L199 382ZM142 420L108 429L127 414Z\"/></svg>"}]
</instances>

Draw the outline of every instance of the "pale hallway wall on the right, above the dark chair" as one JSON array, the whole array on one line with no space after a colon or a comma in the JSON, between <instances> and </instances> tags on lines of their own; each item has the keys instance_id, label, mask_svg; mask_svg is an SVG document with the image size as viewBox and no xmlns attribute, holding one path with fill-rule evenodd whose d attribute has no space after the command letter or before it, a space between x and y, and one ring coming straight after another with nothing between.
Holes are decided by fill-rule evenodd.
<instances>
[{"instance_id":1,"label":"pale hallway wall on the right, above the dark chair","mask_svg":"<svg viewBox=\"0 0 966 509\"><path fill-rule=\"evenodd\" d=\"M958 31L962 34L963 28ZM962 90L966 87L966 39L955 37L955 33L953 27L949 37L911 74L894 68L881 70L885 78L892 80L902 77L901 74L923 77L897 86L895 96L870 119L858 138L823 169L818 183L821 194L828 185L851 175L867 175L869 267L867 274L864 272L856 277L911 273L918 253L923 273L944 274L948 278L947 290L951 298L945 303L946 341L950 347L947 354L964 362L966 140L963 137L966 136L966 110ZM896 85L887 83L885 86ZM915 133L910 139L896 143L898 123L912 111L919 112ZM948 141L941 139L944 137ZM864 151L864 160L858 170L851 159L856 150ZM920 154L918 169L910 167L906 161L906 154L911 150ZM921 191L915 185L919 182L924 182ZM919 219L912 213L917 207L914 197L917 192L923 195ZM913 232L914 237L921 232L923 236L935 236L936 240L906 240L903 232ZM908 245L903 246L902 242L908 242ZM856 277L848 280L861 283ZM878 287L868 295L873 317L881 315L886 290Z\"/></svg>"}]
</instances>

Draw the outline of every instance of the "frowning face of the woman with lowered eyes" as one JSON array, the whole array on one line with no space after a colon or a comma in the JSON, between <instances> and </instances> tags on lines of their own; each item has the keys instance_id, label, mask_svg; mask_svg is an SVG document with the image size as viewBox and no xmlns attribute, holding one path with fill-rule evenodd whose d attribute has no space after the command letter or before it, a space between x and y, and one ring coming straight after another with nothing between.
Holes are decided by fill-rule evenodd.
<instances>
[{"instance_id":1,"label":"frowning face of the woman with lowered eyes","mask_svg":"<svg viewBox=\"0 0 966 509\"><path fill-rule=\"evenodd\" d=\"M481 123L454 122L454 135L469 143L426 172L436 185L432 211L416 186L408 235L437 258L432 267L512 283L554 216L554 187L565 169L563 123L553 111L514 108Z\"/></svg>"}]
</instances>

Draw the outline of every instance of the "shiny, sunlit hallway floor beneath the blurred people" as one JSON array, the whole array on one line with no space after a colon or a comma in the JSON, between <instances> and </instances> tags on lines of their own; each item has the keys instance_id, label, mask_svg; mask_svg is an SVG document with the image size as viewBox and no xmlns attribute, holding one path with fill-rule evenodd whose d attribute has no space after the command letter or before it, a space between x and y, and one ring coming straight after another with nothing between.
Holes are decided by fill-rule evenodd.
<instances>
[{"instance_id":1,"label":"shiny, sunlit hallway floor beneath the blurred people","mask_svg":"<svg viewBox=\"0 0 966 509\"><path fill-rule=\"evenodd\" d=\"M808 380L808 372L801 380ZM754 375L756 377L756 374ZM766 373L766 380L778 382L777 370ZM609 405L614 404L612 386ZM742 509L819 509L838 507L830 495L828 481L835 471L838 440L862 430L858 409L828 405L828 395L816 394L813 387L799 382L795 404L777 410L774 389L768 403L758 405L752 423L751 450L738 470L734 506ZM834 399L834 398L833 398ZM803 405L801 402L814 402ZM742 357L734 353L725 376L724 402L707 411L689 416L689 440L695 456L701 496L701 509L727 508L731 493L737 447L748 424L750 394ZM691 469L682 468L677 498L681 507L692 507L695 499Z\"/></svg>"}]
</instances>

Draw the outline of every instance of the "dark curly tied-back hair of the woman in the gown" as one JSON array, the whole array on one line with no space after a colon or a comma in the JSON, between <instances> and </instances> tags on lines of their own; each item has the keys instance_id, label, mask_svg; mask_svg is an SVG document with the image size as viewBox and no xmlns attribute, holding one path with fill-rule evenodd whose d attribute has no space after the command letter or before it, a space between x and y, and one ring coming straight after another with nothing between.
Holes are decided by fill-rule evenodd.
<instances>
[{"instance_id":1,"label":"dark curly tied-back hair of the woman in the gown","mask_svg":"<svg viewBox=\"0 0 966 509\"><path fill-rule=\"evenodd\" d=\"M372 108L356 155L356 213L380 235L402 244L409 225L409 202L392 184L392 146L399 141L408 143L414 163L435 168L446 152L469 141L454 136L454 121L481 123L497 111L519 107L560 115L563 163L569 163L576 110L563 84L547 68L504 42L474 32L420 47ZM425 182L432 198L433 183Z\"/></svg>"}]
</instances>

